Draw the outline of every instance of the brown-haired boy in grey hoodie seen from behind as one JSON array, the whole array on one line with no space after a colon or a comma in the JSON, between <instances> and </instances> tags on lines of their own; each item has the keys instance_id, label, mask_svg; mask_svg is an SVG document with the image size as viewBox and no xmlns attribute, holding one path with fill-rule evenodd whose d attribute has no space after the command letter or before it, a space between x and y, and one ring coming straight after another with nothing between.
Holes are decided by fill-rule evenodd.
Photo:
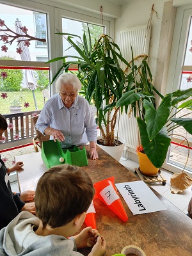
<instances>
[{"instance_id":1,"label":"brown-haired boy in grey hoodie seen from behind","mask_svg":"<svg viewBox=\"0 0 192 256\"><path fill-rule=\"evenodd\" d=\"M102 256L106 241L97 230L84 228L95 190L82 168L61 164L40 177L35 191L36 216L20 214L0 232L0 255L82 255L76 248L92 244L89 256Z\"/></svg>"}]
</instances>

